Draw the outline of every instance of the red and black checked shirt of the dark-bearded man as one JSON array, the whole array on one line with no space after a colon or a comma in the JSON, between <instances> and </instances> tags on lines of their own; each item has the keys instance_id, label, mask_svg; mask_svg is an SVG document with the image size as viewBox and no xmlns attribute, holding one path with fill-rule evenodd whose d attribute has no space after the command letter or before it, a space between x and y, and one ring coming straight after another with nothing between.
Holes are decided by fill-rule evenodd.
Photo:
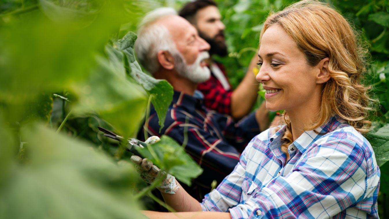
<instances>
[{"instance_id":1,"label":"red and black checked shirt of the dark-bearded man","mask_svg":"<svg viewBox=\"0 0 389 219\"><path fill-rule=\"evenodd\" d=\"M216 63L220 70L226 75L224 67L220 63ZM228 78L226 77L228 80ZM204 95L204 105L208 109L215 110L221 114L231 115L231 95L232 90L226 90L223 85L211 72L211 77L208 81L197 85L197 89Z\"/></svg>"}]
</instances>

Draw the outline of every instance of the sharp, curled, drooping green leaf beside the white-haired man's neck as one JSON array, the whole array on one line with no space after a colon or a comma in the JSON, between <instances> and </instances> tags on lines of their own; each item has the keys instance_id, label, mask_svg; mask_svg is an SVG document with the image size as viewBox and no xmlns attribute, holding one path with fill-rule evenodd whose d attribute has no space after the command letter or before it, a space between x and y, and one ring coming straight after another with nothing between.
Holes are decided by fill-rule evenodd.
<instances>
[{"instance_id":1,"label":"sharp, curled, drooping green leaf beside the white-haired man's neck","mask_svg":"<svg viewBox=\"0 0 389 219\"><path fill-rule=\"evenodd\" d=\"M168 107L173 100L173 87L166 80L158 80L142 72L134 55L133 48L136 39L137 35L135 33L128 32L122 39L117 41L116 46L126 54L130 76L143 86L147 94L154 95L151 102L157 112L159 131L161 131Z\"/></svg>"}]
</instances>

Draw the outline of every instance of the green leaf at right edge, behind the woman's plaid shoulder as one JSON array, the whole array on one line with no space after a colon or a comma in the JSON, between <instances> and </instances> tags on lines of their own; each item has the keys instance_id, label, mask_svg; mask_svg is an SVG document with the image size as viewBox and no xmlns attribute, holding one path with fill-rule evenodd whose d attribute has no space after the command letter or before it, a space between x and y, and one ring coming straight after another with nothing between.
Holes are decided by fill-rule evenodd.
<instances>
[{"instance_id":1,"label":"green leaf at right edge, behind the woman's plaid shoulder","mask_svg":"<svg viewBox=\"0 0 389 219\"><path fill-rule=\"evenodd\" d=\"M377 161L389 161L389 124L375 133L367 133L365 137L373 147Z\"/></svg>"}]
</instances>

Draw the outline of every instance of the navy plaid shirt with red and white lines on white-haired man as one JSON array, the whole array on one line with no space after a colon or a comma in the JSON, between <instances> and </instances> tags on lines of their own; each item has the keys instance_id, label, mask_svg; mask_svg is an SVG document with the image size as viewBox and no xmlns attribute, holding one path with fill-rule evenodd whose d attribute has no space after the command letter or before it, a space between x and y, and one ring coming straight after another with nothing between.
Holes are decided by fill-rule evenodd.
<instances>
[{"instance_id":1,"label":"navy plaid shirt with red and white lines on white-haired man","mask_svg":"<svg viewBox=\"0 0 389 219\"><path fill-rule=\"evenodd\" d=\"M168 135L179 144L187 137L186 152L203 168L202 175L194 181L195 185L207 187L203 194L209 193L213 180L220 183L233 171L244 147L259 133L254 114L235 123L230 116L207 110L202 100L177 91L161 132L153 107L145 126L149 136ZM138 139L144 140L143 130Z\"/></svg>"}]
</instances>

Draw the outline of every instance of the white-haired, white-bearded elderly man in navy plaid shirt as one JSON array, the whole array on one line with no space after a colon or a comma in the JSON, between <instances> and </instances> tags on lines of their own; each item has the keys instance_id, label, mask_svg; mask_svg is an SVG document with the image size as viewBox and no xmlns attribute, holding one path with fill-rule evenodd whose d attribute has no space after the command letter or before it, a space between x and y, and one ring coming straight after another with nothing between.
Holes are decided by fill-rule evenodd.
<instances>
[{"instance_id":1,"label":"white-haired, white-bearded elderly man in navy plaid shirt","mask_svg":"<svg viewBox=\"0 0 389 219\"><path fill-rule=\"evenodd\" d=\"M205 63L209 48L197 30L170 8L147 14L135 42L140 63L174 89L161 132L154 108L144 129L150 136L168 135L179 144L184 144L187 136L185 150L204 170L188 190L198 200L210 191L213 180L220 183L233 170L249 140L269 126L268 112L263 108L235 123L230 116L204 107L201 95L196 95L196 86L210 77ZM143 134L138 138L144 140Z\"/></svg>"}]
</instances>

